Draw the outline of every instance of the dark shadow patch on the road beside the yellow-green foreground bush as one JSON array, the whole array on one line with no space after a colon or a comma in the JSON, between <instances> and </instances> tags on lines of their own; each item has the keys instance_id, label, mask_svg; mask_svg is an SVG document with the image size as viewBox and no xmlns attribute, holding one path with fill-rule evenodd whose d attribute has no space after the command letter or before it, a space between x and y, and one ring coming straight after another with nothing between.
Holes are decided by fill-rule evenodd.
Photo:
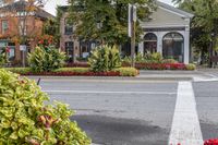
<instances>
[{"instance_id":1,"label":"dark shadow patch on the road beside the yellow-green foreground bush","mask_svg":"<svg viewBox=\"0 0 218 145\"><path fill-rule=\"evenodd\" d=\"M104 145L167 145L169 131L140 120L102 116L74 116L71 118L92 137Z\"/></svg>"}]
</instances>

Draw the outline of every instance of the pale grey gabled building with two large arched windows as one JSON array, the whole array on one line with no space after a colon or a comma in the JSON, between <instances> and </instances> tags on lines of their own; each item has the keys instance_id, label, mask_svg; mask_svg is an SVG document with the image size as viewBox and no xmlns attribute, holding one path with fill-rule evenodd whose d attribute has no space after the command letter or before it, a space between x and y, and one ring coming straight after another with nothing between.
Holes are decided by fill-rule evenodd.
<instances>
[{"instance_id":1,"label":"pale grey gabled building with two large arched windows","mask_svg":"<svg viewBox=\"0 0 218 145\"><path fill-rule=\"evenodd\" d=\"M157 1L157 10L148 22L141 22L144 34L138 51L160 52L164 58L173 58L189 63L190 22L194 15L169 4Z\"/></svg>"}]
</instances>

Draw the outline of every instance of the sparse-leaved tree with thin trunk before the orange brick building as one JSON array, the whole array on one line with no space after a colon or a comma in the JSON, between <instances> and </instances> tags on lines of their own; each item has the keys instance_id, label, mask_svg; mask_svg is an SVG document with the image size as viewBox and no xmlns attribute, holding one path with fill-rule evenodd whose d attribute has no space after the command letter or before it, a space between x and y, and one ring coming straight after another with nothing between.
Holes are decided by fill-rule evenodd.
<instances>
[{"instance_id":1,"label":"sparse-leaved tree with thin trunk before the orange brick building","mask_svg":"<svg viewBox=\"0 0 218 145\"><path fill-rule=\"evenodd\" d=\"M45 0L3 0L0 13L7 21L1 38L10 39L16 46L35 43L35 37L41 34L38 20L45 2ZM23 65L25 65L24 58L23 52Z\"/></svg>"}]
</instances>

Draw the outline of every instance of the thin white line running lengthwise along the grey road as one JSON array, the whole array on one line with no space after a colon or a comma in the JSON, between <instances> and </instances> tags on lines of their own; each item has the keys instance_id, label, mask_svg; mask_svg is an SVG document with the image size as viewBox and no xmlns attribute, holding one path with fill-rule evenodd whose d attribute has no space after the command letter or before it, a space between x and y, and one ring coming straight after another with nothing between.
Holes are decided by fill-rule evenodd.
<instances>
[{"instance_id":1,"label":"thin white line running lengthwise along the grey road","mask_svg":"<svg viewBox=\"0 0 218 145\"><path fill-rule=\"evenodd\" d=\"M174 95L170 92L100 92L100 90L43 90L45 93L61 93L61 94L147 94L147 95Z\"/></svg>"}]
</instances>

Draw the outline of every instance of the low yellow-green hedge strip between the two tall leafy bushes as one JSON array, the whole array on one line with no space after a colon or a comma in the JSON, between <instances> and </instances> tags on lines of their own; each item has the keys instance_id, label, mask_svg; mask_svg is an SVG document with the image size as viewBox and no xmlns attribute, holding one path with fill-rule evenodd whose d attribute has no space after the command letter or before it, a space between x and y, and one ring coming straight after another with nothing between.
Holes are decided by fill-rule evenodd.
<instances>
[{"instance_id":1,"label":"low yellow-green hedge strip between the two tall leafy bushes","mask_svg":"<svg viewBox=\"0 0 218 145\"><path fill-rule=\"evenodd\" d=\"M53 72L75 72L75 73L86 73L89 72L89 68L60 68Z\"/></svg>"}]
</instances>

